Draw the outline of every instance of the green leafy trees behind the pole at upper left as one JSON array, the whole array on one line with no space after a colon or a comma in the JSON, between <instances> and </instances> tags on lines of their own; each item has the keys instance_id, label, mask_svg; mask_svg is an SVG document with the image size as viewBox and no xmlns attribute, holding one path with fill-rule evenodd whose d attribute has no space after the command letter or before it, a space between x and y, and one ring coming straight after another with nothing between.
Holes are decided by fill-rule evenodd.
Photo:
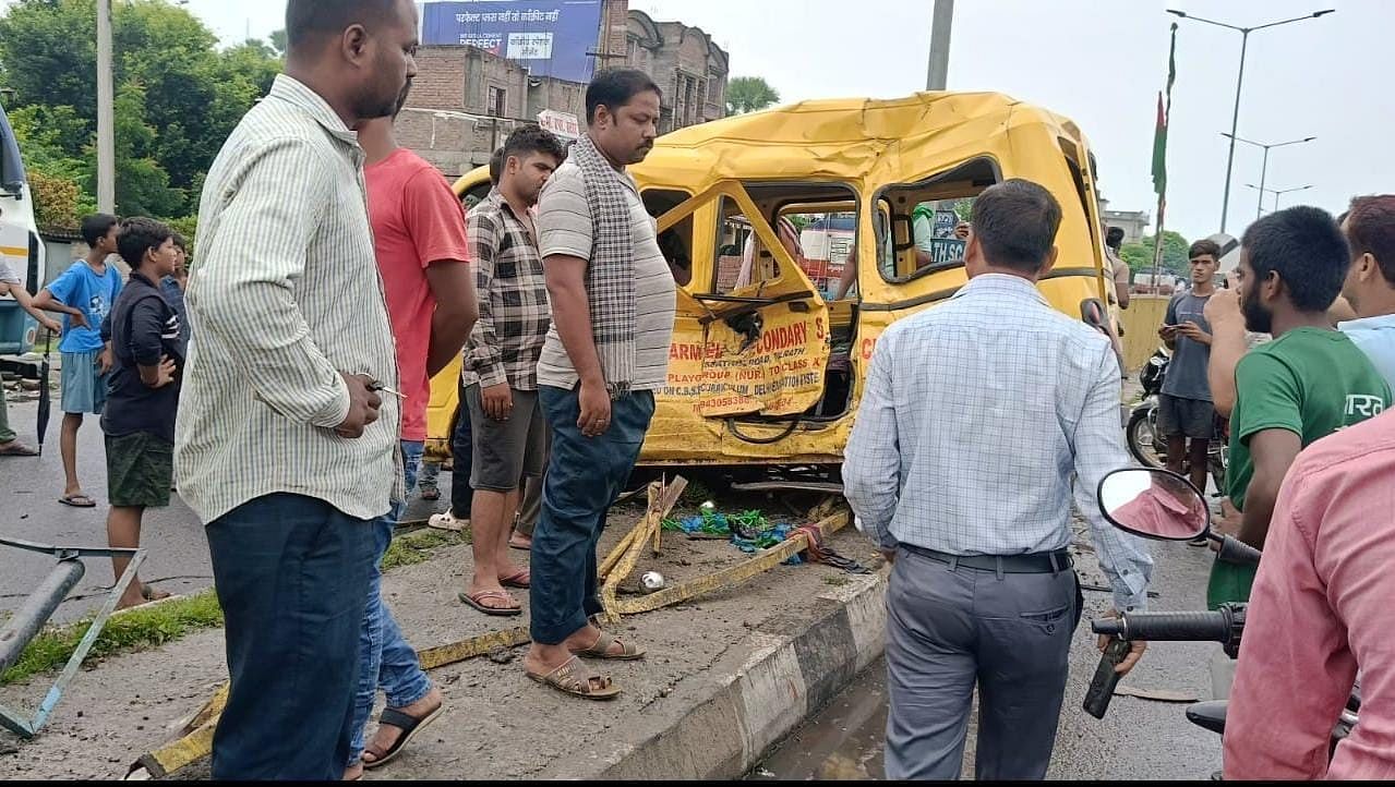
<instances>
[{"instance_id":1,"label":"green leafy trees behind the pole at upper left","mask_svg":"<svg viewBox=\"0 0 1395 787\"><path fill-rule=\"evenodd\" d=\"M112 14L117 213L187 216L227 134L280 70L278 45L219 50L166 0L114 3ZM6 109L50 194L56 180L96 191L95 42L92 0L18 0L0 17Z\"/></svg>"}]
</instances>

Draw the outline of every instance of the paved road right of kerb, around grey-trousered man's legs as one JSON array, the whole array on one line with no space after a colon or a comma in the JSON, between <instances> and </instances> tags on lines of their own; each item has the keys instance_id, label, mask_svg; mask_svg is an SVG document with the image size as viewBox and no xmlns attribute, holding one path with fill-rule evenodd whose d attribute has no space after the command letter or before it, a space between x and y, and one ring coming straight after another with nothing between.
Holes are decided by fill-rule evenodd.
<instances>
[{"instance_id":1,"label":"paved road right of kerb, around grey-trousered man's legs","mask_svg":"<svg viewBox=\"0 0 1395 787\"><path fill-rule=\"evenodd\" d=\"M1155 543L1154 610L1204 609L1211 552ZM1087 581L1088 577L1087 577ZM1087 616L1108 596L1087 593ZM1088 623L1083 623L1085 628ZM1191 692L1209 699L1205 663L1216 645L1156 642L1124 684ZM1186 705L1116 696L1103 720L1081 710L1099 652L1084 631L1071 649L1071 674L1049 779L1207 779L1221 767L1221 737L1187 723ZM886 662L879 660L820 715L787 738L752 779L884 779ZM972 777L974 728L965 747Z\"/></svg>"}]
</instances>

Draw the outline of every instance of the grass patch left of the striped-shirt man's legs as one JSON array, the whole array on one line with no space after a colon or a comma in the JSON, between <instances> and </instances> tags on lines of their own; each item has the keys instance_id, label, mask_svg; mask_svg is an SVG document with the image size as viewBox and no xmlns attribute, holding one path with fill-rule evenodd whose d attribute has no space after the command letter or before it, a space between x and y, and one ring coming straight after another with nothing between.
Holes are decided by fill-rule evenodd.
<instances>
[{"instance_id":1,"label":"grass patch left of the striped-shirt man's legs","mask_svg":"<svg viewBox=\"0 0 1395 787\"><path fill-rule=\"evenodd\" d=\"M66 625L45 627L24 649L20 660L0 674L0 685L63 669L91 624L92 618L86 617ZM88 650L88 659L153 648L222 624L223 610L211 588L187 599L172 599L107 618L102 634Z\"/></svg>"}]
</instances>

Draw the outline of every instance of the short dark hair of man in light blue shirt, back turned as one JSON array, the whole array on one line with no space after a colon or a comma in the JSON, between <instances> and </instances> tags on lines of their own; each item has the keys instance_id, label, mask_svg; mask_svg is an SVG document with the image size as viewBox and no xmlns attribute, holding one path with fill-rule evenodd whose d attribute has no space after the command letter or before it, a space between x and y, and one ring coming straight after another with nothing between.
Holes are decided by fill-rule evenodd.
<instances>
[{"instance_id":1,"label":"short dark hair of man in light blue shirt, back turned","mask_svg":"<svg viewBox=\"0 0 1395 787\"><path fill-rule=\"evenodd\" d=\"M1041 270L1059 228L1060 203L1028 180L1006 180L974 201L972 231L993 266Z\"/></svg>"}]
</instances>

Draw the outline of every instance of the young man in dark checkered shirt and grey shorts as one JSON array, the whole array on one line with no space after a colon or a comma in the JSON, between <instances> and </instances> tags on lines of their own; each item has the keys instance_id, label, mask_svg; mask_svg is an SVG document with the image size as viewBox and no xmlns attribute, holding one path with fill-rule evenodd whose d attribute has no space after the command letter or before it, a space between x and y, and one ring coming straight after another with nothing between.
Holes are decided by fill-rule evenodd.
<instances>
[{"instance_id":1,"label":"young man in dark checkered shirt and grey shorts","mask_svg":"<svg viewBox=\"0 0 1395 787\"><path fill-rule=\"evenodd\" d=\"M527 588L529 570L508 557L523 476L547 468L547 421L537 400L537 359L551 325L543 258L530 209L566 157L562 143L525 125L504 143L498 185L470 209L480 320L465 354L465 405L473 432L470 528L474 578L460 600L485 614L523 607L505 586Z\"/></svg>"}]
</instances>

